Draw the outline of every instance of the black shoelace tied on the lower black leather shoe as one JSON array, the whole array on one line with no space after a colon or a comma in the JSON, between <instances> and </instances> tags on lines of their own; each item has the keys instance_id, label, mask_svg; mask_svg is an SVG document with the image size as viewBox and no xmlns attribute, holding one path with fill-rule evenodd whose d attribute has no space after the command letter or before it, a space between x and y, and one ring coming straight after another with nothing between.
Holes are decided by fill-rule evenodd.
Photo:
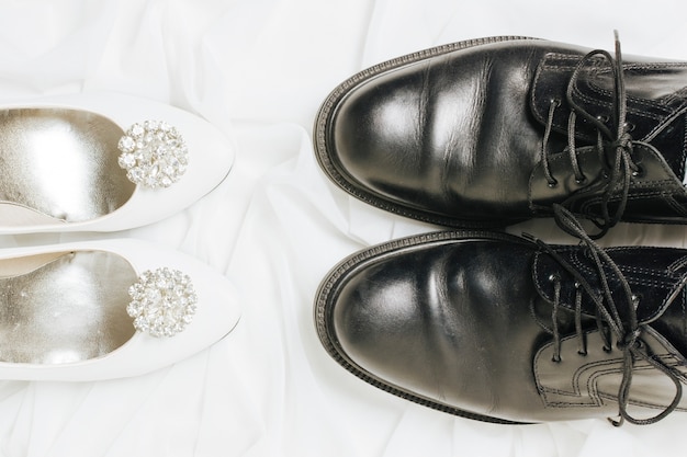
<instances>
[{"instance_id":1,"label":"black shoelace tied on the lower black leather shoe","mask_svg":"<svg viewBox=\"0 0 687 457\"><path fill-rule=\"evenodd\" d=\"M620 419L609 419L609 421L620 426L624 421L628 421L637 425L646 425L658 422L675 411L683 397L683 385L680 382L679 374L674 372L673 368L665 365L658 358L654 358L646 354L642 349L644 342L642 341L642 324L639 323L637 318L637 307L639 305L639 298L632 294L630 285L620 271L620 267L613 262L608 253L600 248L593 238L584 230L579 221L573 216L573 214L565 209L563 206L555 204L553 206L554 217L559 221L559 225L567 233L578 238L588 248L590 258L594 261L596 273L598 274L599 282L601 284L600 293L589 285L587 279L567 261L565 261L558 252L549 247L543 241L526 235L527 238L534 241L544 252L553 258L566 272L568 272L575 282L575 329L578 341L578 353L586 355L585 339L582 329L582 297L585 293L593 301L596 308L596 321L599 329L599 333L605 343L605 350L611 350L610 333L615 334L618 350L622 351L622 380L618 391L618 408ZM607 273L608 272L608 273ZM609 286L609 274L611 277L619 282L622 288L621 297L613 297ZM551 312L552 328L549 329L553 333L554 343L554 362L561 362L561 334L558 328L558 313L561 307L561 278L558 275L552 275L549 278L553 283L554 299L553 309ZM682 285L685 287L685 284ZM623 320L620 317L619 306L623 306L627 319ZM654 368L661 370L675 384L675 397L673 401L658 414L649 419L637 419L628 413L628 403L630 397L630 387L632 384L632 374L634 369L635 361L642 359L649 363Z\"/></svg>"}]
</instances>

